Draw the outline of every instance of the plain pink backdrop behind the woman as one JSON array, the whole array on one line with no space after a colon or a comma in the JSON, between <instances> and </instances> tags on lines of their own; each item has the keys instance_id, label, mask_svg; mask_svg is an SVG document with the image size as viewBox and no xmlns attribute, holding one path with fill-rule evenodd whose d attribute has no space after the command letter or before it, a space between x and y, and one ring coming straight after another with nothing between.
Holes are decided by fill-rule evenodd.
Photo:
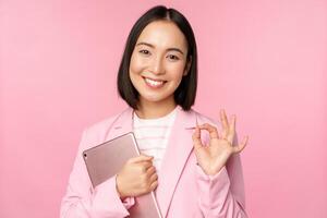
<instances>
[{"instance_id":1,"label":"plain pink backdrop behind the woman","mask_svg":"<svg viewBox=\"0 0 327 218\"><path fill-rule=\"evenodd\" d=\"M238 116L254 218L327 217L327 2L1 2L0 217L59 217L82 131L125 105L116 92L136 19L164 3L193 25L195 109Z\"/></svg>"}]
</instances>

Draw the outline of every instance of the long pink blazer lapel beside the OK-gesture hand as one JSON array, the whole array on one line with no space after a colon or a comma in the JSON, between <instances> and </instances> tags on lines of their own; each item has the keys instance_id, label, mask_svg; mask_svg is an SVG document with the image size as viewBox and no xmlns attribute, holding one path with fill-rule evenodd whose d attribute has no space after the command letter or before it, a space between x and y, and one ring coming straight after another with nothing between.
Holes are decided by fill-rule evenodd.
<instances>
[{"instance_id":1,"label":"long pink blazer lapel beside the OK-gesture hand","mask_svg":"<svg viewBox=\"0 0 327 218\"><path fill-rule=\"evenodd\" d=\"M156 198L162 217L167 216L177 183L193 149L192 133L196 122L196 113L193 110L185 112L178 106L175 122L171 129L156 190Z\"/></svg>"}]
</instances>

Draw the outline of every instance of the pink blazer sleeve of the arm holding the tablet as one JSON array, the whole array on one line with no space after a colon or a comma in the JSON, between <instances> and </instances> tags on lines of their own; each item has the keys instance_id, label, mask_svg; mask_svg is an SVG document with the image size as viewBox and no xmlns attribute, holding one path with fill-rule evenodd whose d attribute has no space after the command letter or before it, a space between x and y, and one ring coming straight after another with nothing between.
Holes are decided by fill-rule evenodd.
<instances>
[{"instance_id":1,"label":"pink blazer sleeve of the arm holding the tablet","mask_svg":"<svg viewBox=\"0 0 327 218\"><path fill-rule=\"evenodd\" d=\"M87 130L83 132L66 193L62 198L61 218L122 218L129 216L134 197L120 199L116 189L116 177L93 189L82 157L82 152L92 141Z\"/></svg>"}]
</instances>

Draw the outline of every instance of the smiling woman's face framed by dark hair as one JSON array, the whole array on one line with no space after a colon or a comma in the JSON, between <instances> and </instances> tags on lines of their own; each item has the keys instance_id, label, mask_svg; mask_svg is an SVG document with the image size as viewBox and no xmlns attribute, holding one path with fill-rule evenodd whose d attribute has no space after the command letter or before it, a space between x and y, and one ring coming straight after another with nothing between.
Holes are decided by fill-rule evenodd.
<instances>
[{"instance_id":1,"label":"smiling woman's face framed by dark hair","mask_svg":"<svg viewBox=\"0 0 327 218\"><path fill-rule=\"evenodd\" d=\"M174 104L173 93L189 72L187 43L179 27L169 21L149 23L134 47L130 77L145 104Z\"/></svg>"}]
</instances>

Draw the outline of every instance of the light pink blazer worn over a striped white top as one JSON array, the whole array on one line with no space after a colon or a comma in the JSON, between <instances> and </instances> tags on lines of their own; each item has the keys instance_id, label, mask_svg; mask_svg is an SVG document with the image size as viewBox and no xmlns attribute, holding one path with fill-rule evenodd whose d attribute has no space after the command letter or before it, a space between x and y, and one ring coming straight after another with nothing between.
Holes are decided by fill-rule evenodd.
<instances>
[{"instance_id":1,"label":"light pink blazer worn over a striped white top","mask_svg":"<svg viewBox=\"0 0 327 218\"><path fill-rule=\"evenodd\" d=\"M92 187L82 152L108 140L133 131L133 109L85 129L77 156L70 174L66 193L61 203L61 218L120 218L129 216L134 197L124 202L116 190L116 175ZM156 197L165 218L246 218L243 172L239 155L233 155L215 175L206 175L196 164L192 134L196 123L215 122L201 113L183 111L178 113L161 169L158 174ZM208 143L207 134L203 134ZM234 140L237 143L237 137Z\"/></svg>"}]
</instances>

